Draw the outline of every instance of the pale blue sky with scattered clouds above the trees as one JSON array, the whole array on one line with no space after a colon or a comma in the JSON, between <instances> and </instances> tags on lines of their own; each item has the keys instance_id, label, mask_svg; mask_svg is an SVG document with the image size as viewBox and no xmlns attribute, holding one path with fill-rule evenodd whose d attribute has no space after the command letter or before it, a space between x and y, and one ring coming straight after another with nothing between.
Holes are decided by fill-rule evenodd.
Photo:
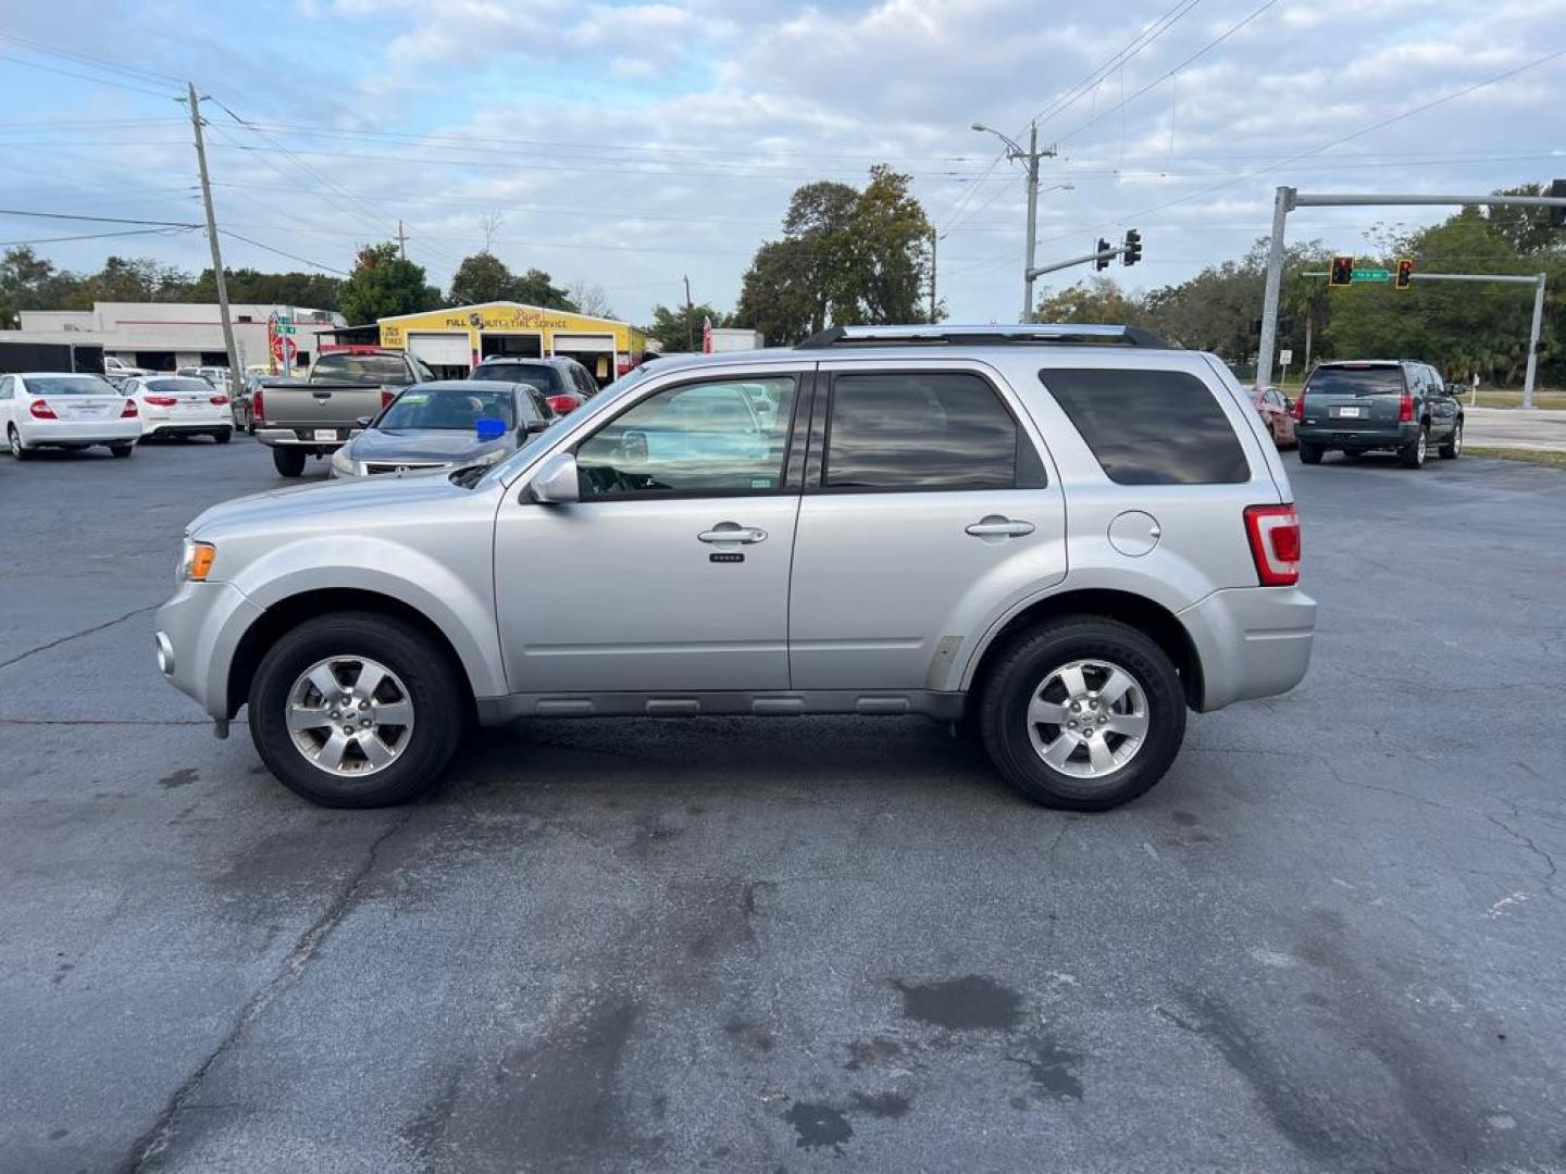
<instances>
[{"instance_id":1,"label":"pale blue sky with scattered clouds above the trees","mask_svg":"<svg viewBox=\"0 0 1566 1174\"><path fill-rule=\"evenodd\" d=\"M398 219L445 285L482 247L603 286L633 321L730 308L789 193L915 177L957 321L1021 305L1040 121L1040 261L1142 229L1134 288L1237 257L1272 189L1475 193L1566 175L1566 0L50 0L0 23L0 207L200 219L208 146L230 266L346 271ZM1467 92L1464 92L1467 91ZM1428 106L1428 108L1427 108ZM1405 116L1406 117L1400 117ZM1333 146L1337 144L1337 146ZM1439 210L1311 210L1292 238L1364 246ZM138 225L0 216L0 239ZM241 239L247 238L247 239ZM199 269L199 233L34 246Z\"/></svg>"}]
</instances>

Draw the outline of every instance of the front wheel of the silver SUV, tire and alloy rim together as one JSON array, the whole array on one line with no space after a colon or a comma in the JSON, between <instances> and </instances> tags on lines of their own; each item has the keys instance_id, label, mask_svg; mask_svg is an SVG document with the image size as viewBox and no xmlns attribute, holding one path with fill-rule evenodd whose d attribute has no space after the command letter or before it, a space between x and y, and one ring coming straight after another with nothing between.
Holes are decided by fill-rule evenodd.
<instances>
[{"instance_id":1,"label":"front wheel of the silver SUV, tire and alloy rim together","mask_svg":"<svg viewBox=\"0 0 1566 1174\"><path fill-rule=\"evenodd\" d=\"M251 740L290 790L379 808L428 790L464 729L462 682L417 628L374 612L299 625L251 684Z\"/></svg>"}]
</instances>

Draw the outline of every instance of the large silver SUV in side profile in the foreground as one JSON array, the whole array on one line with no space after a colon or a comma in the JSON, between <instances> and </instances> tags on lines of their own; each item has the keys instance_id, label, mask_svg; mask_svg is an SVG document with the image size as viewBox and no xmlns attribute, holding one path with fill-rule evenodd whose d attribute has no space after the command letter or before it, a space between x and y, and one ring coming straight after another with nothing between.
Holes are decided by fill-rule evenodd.
<instances>
[{"instance_id":1,"label":"large silver SUV in side profile in the foreground","mask_svg":"<svg viewBox=\"0 0 1566 1174\"><path fill-rule=\"evenodd\" d=\"M168 678L288 787L426 790L468 718L926 714L1024 795L1151 787L1294 687L1289 479L1212 355L1129 327L835 327L653 362L490 468L216 506Z\"/></svg>"}]
</instances>

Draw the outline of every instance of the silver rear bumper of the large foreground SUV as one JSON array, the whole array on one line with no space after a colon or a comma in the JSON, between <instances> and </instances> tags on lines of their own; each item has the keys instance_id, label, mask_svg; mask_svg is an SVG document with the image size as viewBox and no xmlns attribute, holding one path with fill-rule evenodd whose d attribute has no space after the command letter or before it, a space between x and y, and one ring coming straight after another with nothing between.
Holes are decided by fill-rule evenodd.
<instances>
[{"instance_id":1,"label":"silver rear bumper of the large foreground SUV","mask_svg":"<svg viewBox=\"0 0 1566 1174\"><path fill-rule=\"evenodd\" d=\"M1179 614L1201 659L1201 711L1294 689L1311 667L1315 600L1298 587L1234 587Z\"/></svg>"}]
</instances>

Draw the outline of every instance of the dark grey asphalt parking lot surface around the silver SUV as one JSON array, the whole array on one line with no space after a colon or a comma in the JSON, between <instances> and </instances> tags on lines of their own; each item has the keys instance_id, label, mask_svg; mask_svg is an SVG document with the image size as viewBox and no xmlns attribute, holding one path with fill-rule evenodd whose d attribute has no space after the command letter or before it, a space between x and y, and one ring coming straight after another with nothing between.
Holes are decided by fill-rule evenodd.
<instances>
[{"instance_id":1,"label":"dark grey asphalt parking lot surface around the silver SUV","mask_svg":"<svg viewBox=\"0 0 1566 1174\"><path fill-rule=\"evenodd\" d=\"M0 460L0 1169L1566 1169L1566 474L1289 466L1311 675L1129 808L697 718L334 812L152 661L266 452Z\"/></svg>"}]
</instances>

